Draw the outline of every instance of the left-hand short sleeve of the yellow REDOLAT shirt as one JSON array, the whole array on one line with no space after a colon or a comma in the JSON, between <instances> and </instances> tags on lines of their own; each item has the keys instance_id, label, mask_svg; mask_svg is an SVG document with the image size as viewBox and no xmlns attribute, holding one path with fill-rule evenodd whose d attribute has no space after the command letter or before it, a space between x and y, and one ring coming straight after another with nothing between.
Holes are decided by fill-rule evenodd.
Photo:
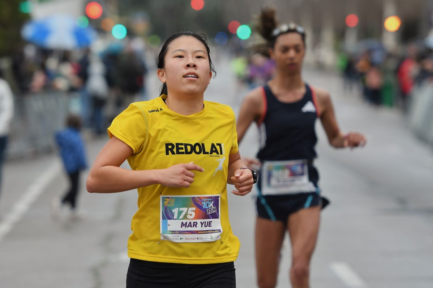
<instances>
[{"instance_id":1,"label":"left-hand short sleeve of the yellow REDOLAT shirt","mask_svg":"<svg viewBox=\"0 0 433 288\"><path fill-rule=\"evenodd\" d=\"M117 115L107 130L110 138L113 135L116 136L131 147L134 154L145 147L148 131L147 119L143 110L134 103Z\"/></svg>"}]
</instances>

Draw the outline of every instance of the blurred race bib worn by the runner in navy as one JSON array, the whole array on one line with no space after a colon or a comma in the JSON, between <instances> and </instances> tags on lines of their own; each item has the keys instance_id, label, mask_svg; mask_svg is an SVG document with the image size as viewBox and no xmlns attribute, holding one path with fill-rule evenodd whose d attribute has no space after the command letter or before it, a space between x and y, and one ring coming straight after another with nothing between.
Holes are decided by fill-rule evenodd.
<instances>
[{"instance_id":1,"label":"blurred race bib worn by the runner in navy","mask_svg":"<svg viewBox=\"0 0 433 288\"><path fill-rule=\"evenodd\" d=\"M262 195L314 192L308 178L307 160L265 161L262 164Z\"/></svg>"}]
</instances>

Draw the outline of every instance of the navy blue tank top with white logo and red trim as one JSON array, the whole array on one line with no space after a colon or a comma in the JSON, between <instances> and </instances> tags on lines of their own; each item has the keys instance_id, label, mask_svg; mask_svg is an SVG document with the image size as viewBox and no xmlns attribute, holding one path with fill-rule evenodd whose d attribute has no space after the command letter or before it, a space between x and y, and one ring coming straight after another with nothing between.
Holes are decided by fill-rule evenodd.
<instances>
[{"instance_id":1,"label":"navy blue tank top with white logo and red trim","mask_svg":"<svg viewBox=\"0 0 433 288\"><path fill-rule=\"evenodd\" d=\"M257 158L263 161L316 158L317 143L314 125L318 117L314 92L305 84L301 100L293 103L279 101L268 85L263 86L265 115L258 123L260 150Z\"/></svg>"}]
</instances>

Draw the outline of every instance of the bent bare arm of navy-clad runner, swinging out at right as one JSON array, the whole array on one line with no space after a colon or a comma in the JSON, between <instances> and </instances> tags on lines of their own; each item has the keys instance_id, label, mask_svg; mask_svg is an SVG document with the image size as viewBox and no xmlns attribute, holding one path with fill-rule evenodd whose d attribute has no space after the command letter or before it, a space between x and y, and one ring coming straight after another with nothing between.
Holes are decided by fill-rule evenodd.
<instances>
[{"instance_id":1,"label":"bent bare arm of navy-clad runner, swinging out at right","mask_svg":"<svg viewBox=\"0 0 433 288\"><path fill-rule=\"evenodd\" d=\"M320 88L315 88L315 92L317 96L317 108L320 112L320 121L322 122L322 126L325 129L326 136L331 146L343 148L364 145L366 143L364 135L356 132L343 134L339 129L330 94Z\"/></svg>"}]
</instances>

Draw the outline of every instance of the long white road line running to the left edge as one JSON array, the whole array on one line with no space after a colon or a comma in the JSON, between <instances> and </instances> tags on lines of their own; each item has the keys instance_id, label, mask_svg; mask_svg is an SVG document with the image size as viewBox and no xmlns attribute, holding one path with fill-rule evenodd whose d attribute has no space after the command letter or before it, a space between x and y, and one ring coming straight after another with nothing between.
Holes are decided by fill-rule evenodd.
<instances>
[{"instance_id":1,"label":"long white road line running to the left edge","mask_svg":"<svg viewBox=\"0 0 433 288\"><path fill-rule=\"evenodd\" d=\"M36 181L33 182L23 195L21 195L18 201L15 202L9 214L7 214L3 218L3 221L0 222L0 242L3 240L3 237L12 230L13 226L23 218L24 214L26 214L33 202L36 201L55 176L58 175L61 171L60 168L61 166L59 161L53 161L49 168L38 176Z\"/></svg>"}]
</instances>

